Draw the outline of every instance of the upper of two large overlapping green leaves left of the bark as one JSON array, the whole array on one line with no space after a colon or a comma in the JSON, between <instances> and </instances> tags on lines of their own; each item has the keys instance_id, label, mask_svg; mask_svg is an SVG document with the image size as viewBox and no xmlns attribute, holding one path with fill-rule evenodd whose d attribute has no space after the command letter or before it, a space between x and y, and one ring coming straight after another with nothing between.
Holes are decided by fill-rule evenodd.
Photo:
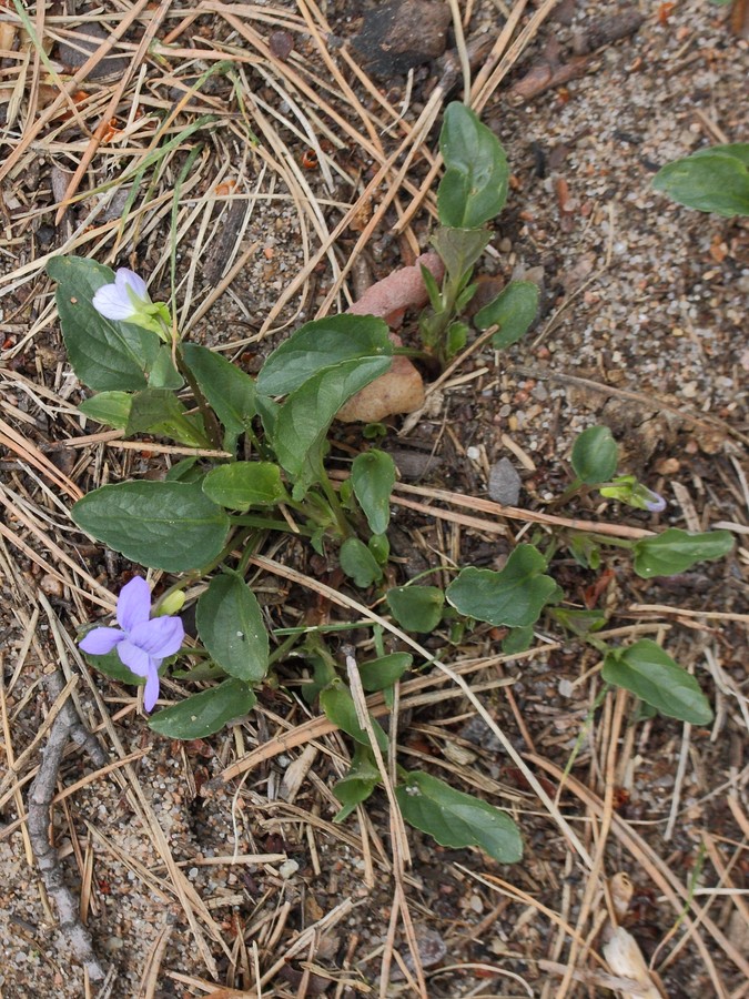
<instances>
[{"instance_id":1,"label":"upper of two large overlapping green leaves left of the bark","mask_svg":"<svg viewBox=\"0 0 749 999\"><path fill-rule=\"evenodd\" d=\"M289 395L325 369L346 361L389 357L392 353L387 323L383 320L373 315L331 315L300 326L273 351L257 376L257 391L262 395Z\"/></svg>"}]
</instances>

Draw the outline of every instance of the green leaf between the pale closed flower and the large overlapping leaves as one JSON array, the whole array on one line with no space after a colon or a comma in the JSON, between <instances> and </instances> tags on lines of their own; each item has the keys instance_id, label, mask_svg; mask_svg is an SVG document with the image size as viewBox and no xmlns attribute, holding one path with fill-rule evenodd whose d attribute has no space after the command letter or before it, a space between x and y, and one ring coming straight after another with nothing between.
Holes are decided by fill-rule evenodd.
<instances>
[{"instance_id":1,"label":"green leaf between the pale closed flower and the large overlapping leaves","mask_svg":"<svg viewBox=\"0 0 749 999\"><path fill-rule=\"evenodd\" d=\"M182 344L182 357L192 372L206 402L226 428L226 451L233 451L236 437L257 413L255 383L235 364L215 351L196 343Z\"/></svg>"}]
</instances>

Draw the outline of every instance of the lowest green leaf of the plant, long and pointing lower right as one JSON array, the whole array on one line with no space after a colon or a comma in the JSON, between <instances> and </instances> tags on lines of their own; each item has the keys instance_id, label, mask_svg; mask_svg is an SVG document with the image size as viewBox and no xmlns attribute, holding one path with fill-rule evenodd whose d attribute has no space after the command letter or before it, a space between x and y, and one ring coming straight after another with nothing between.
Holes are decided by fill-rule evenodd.
<instances>
[{"instance_id":1,"label":"lowest green leaf of the plant, long and pointing lower right","mask_svg":"<svg viewBox=\"0 0 749 999\"><path fill-rule=\"evenodd\" d=\"M431 774L406 774L395 796L404 819L442 846L478 846L499 864L517 864L523 857L519 830L505 811Z\"/></svg>"}]
</instances>

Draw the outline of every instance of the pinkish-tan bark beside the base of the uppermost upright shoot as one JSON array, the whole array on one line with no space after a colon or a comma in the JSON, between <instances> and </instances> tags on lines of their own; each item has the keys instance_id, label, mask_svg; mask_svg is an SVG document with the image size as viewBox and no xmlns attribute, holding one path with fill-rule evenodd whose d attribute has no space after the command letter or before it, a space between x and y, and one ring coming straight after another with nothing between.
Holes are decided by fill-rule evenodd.
<instances>
[{"instance_id":1,"label":"pinkish-tan bark beside the base of the uppermost upright shoot","mask_svg":"<svg viewBox=\"0 0 749 999\"><path fill-rule=\"evenodd\" d=\"M423 253L413 268L401 268L373 284L348 312L352 315L377 315L397 329L407 309L421 309L428 301L422 265L442 281L444 265L436 253ZM401 340L391 333L396 346ZM342 423L377 423L386 416L413 413L424 405L424 380L403 354L396 354L389 371L366 385L338 411Z\"/></svg>"}]
</instances>

